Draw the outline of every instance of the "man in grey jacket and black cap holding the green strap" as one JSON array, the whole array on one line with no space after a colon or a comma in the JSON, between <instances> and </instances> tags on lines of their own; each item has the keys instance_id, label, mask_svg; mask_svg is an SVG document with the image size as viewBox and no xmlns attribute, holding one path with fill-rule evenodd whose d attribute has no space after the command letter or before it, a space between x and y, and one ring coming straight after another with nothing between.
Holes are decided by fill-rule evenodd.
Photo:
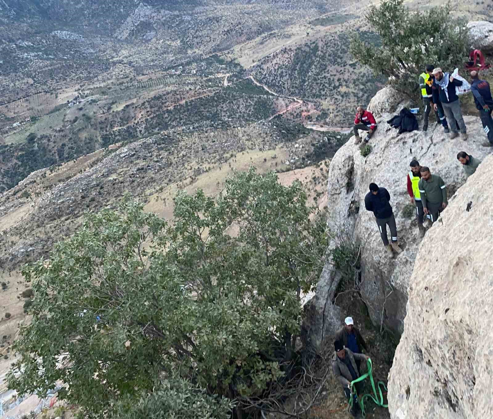
<instances>
[{"instance_id":1,"label":"man in grey jacket and black cap holding the green strap","mask_svg":"<svg viewBox=\"0 0 493 419\"><path fill-rule=\"evenodd\" d=\"M351 350L345 348L339 340L334 342L334 349L335 352L332 356L332 372L341 383L344 394L348 400L350 397L353 397L351 414L356 417L360 408L357 394L351 394L351 382L359 378L360 374L358 373L355 359L359 361L366 361L370 357L363 354L353 354ZM356 383L354 387L356 387L356 391L358 393L361 393L363 389L363 382L360 381L359 383Z\"/></svg>"}]
</instances>

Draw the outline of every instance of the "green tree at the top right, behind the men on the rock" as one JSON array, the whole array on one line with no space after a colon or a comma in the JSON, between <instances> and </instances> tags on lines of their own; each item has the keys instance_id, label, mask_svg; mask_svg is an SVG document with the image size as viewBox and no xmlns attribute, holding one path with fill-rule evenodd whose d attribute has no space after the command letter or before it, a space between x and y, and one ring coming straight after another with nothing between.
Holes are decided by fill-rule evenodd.
<instances>
[{"instance_id":1,"label":"green tree at the top right, behind the men on the rock","mask_svg":"<svg viewBox=\"0 0 493 419\"><path fill-rule=\"evenodd\" d=\"M418 76L427 64L444 71L462 67L469 55L466 22L450 15L451 5L411 10L404 0L384 0L365 15L381 44L365 42L358 33L350 51L361 64L386 75L401 92L418 92Z\"/></svg>"}]
</instances>

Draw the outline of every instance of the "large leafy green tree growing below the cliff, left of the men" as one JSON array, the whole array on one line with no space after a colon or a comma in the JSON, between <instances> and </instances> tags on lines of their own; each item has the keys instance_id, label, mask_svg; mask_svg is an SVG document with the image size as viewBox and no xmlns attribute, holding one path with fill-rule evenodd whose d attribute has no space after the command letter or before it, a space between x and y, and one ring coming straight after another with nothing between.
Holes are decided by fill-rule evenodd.
<instances>
[{"instance_id":1,"label":"large leafy green tree growing below the cliff, left of the men","mask_svg":"<svg viewBox=\"0 0 493 419\"><path fill-rule=\"evenodd\" d=\"M15 343L10 387L42 394L62 382L60 397L96 418L135 413L142 394L176 380L193 397L217 394L201 406L224 413L221 397L260 397L287 379L300 294L324 263L321 215L300 183L254 169L215 199L199 190L174 202L169 224L129 200L91 213L49 260L23 269L33 320ZM154 399L139 406L159 410Z\"/></svg>"}]
</instances>

